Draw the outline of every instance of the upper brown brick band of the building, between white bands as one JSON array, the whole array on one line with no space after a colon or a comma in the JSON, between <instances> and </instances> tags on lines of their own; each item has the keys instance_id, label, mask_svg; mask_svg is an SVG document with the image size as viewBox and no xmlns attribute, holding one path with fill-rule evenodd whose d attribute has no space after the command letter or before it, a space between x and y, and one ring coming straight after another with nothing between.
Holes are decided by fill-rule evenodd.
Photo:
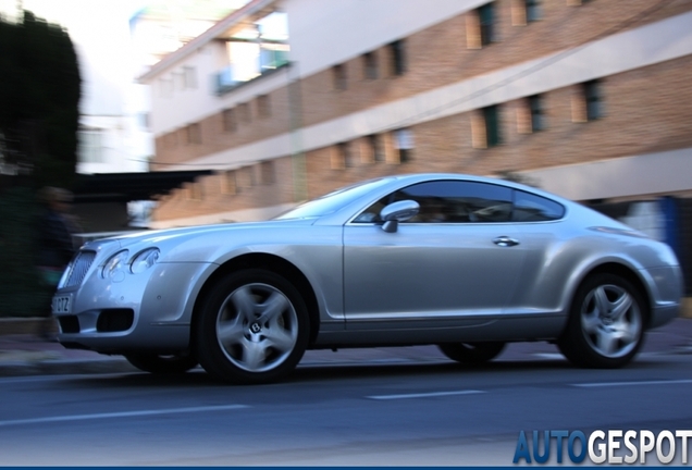
<instances>
[{"instance_id":1,"label":"upper brown brick band of the building, between white bands","mask_svg":"<svg viewBox=\"0 0 692 470\"><path fill-rule=\"evenodd\" d=\"M473 77L494 70L561 51L601 37L642 26L692 10L685 0L658 3L650 0L592 2L570 7L564 1L543 2L543 18L528 25L512 24L512 0L497 0L498 41L482 49L470 49L467 16L459 15L405 39L407 72L395 76L388 47L370 51L378 62L378 78L364 77L363 58L343 64L346 89L336 89L333 70L328 69L301 81L301 121L306 126L345 114L407 98L421 91ZM641 15L642 12L651 12ZM549 38L549 40L546 40ZM363 51L364 52L364 51ZM258 115L257 98L246 101L250 120L238 119L238 129L224 132L221 113L201 121L201 144L188 144L185 128L174 129L156 140L157 162L177 163L243 146L289 129L289 96L286 88L269 94L271 115Z\"/></svg>"}]
</instances>

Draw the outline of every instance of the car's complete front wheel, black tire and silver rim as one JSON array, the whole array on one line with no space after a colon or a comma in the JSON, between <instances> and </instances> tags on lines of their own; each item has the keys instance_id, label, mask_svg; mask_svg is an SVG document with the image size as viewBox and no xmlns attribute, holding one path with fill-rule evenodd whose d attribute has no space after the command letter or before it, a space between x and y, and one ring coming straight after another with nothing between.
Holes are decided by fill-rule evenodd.
<instances>
[{"instance_id":1,"label":"car's complete front wheel, black tire and silver rim","mask_svg":"<svg viewBox=\"0 0 692 470\"><path fill-rule=\"evenodd\" d=\"M207 293L196 317L199 362L235 384L275 382L307 348L309 317L296 287L262 269L226 274Z\"/></svg>"}]
</instances>

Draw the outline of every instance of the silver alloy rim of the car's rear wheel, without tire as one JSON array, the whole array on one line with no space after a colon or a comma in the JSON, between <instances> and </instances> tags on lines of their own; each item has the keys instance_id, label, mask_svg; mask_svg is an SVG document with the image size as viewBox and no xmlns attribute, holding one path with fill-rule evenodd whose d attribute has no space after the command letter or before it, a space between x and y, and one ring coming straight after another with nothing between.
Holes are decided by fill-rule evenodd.
<instances>
[{"instance_id":1,"label":"silver alloy rim of the car's rear wheel, without tire","mask_svg":"<svg viewBox=\"0 0 692 470\"><path fill-rule=\"evenodd\" d=\"M600 285L583 300L581 327L593 350L607 358L619 358L638 346L642 312L627 289L614 284Z\"/></svg>"}]
</instances>

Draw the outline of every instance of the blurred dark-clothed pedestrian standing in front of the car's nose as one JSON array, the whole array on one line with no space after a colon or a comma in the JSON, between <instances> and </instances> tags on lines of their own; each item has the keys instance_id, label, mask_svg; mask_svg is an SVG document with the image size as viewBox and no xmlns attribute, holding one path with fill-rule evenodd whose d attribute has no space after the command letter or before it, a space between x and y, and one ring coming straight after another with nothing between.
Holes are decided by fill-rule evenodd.
<instances>
[{"instance_id":1,"label":"blurred dark-clothed pedestrian standing in front of the car's nose","mask_svg":"<svg viewBox=\"0 0 692 470\"><path fill-rule=\"evenodd\" d=\"M42 212L39 218L38 250L36 264L40 273L41 287L50 295L55 292L65 267L74 255L72 234L76 231L74 218L70 213L72 193L47 186L38 194ZM50 304L41 310L45 317L37 334L42 339L53 341L53 319Z\"/></svg>"}]
</instances>

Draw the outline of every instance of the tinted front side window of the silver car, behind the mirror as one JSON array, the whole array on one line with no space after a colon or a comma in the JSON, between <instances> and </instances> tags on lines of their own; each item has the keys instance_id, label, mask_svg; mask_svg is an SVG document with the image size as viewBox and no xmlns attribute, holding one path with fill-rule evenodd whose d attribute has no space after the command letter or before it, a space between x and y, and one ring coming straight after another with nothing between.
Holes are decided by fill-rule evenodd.
<instances>
[{"instance_id":1,"label":"tinted front side window of the silver car, behind the mirror","mask_svg":"<svg viewBox=\"0 0 692 470\"><path fill-rule=\"evenodd\" d=\"M355 222L382 222L382 208L399 200L415 200L420 205L418 215L408 220L409 223L509 222L511 199L510 188L489 183L419 183L380 199L358 215Z\"/></svg>"}]
</instances>

